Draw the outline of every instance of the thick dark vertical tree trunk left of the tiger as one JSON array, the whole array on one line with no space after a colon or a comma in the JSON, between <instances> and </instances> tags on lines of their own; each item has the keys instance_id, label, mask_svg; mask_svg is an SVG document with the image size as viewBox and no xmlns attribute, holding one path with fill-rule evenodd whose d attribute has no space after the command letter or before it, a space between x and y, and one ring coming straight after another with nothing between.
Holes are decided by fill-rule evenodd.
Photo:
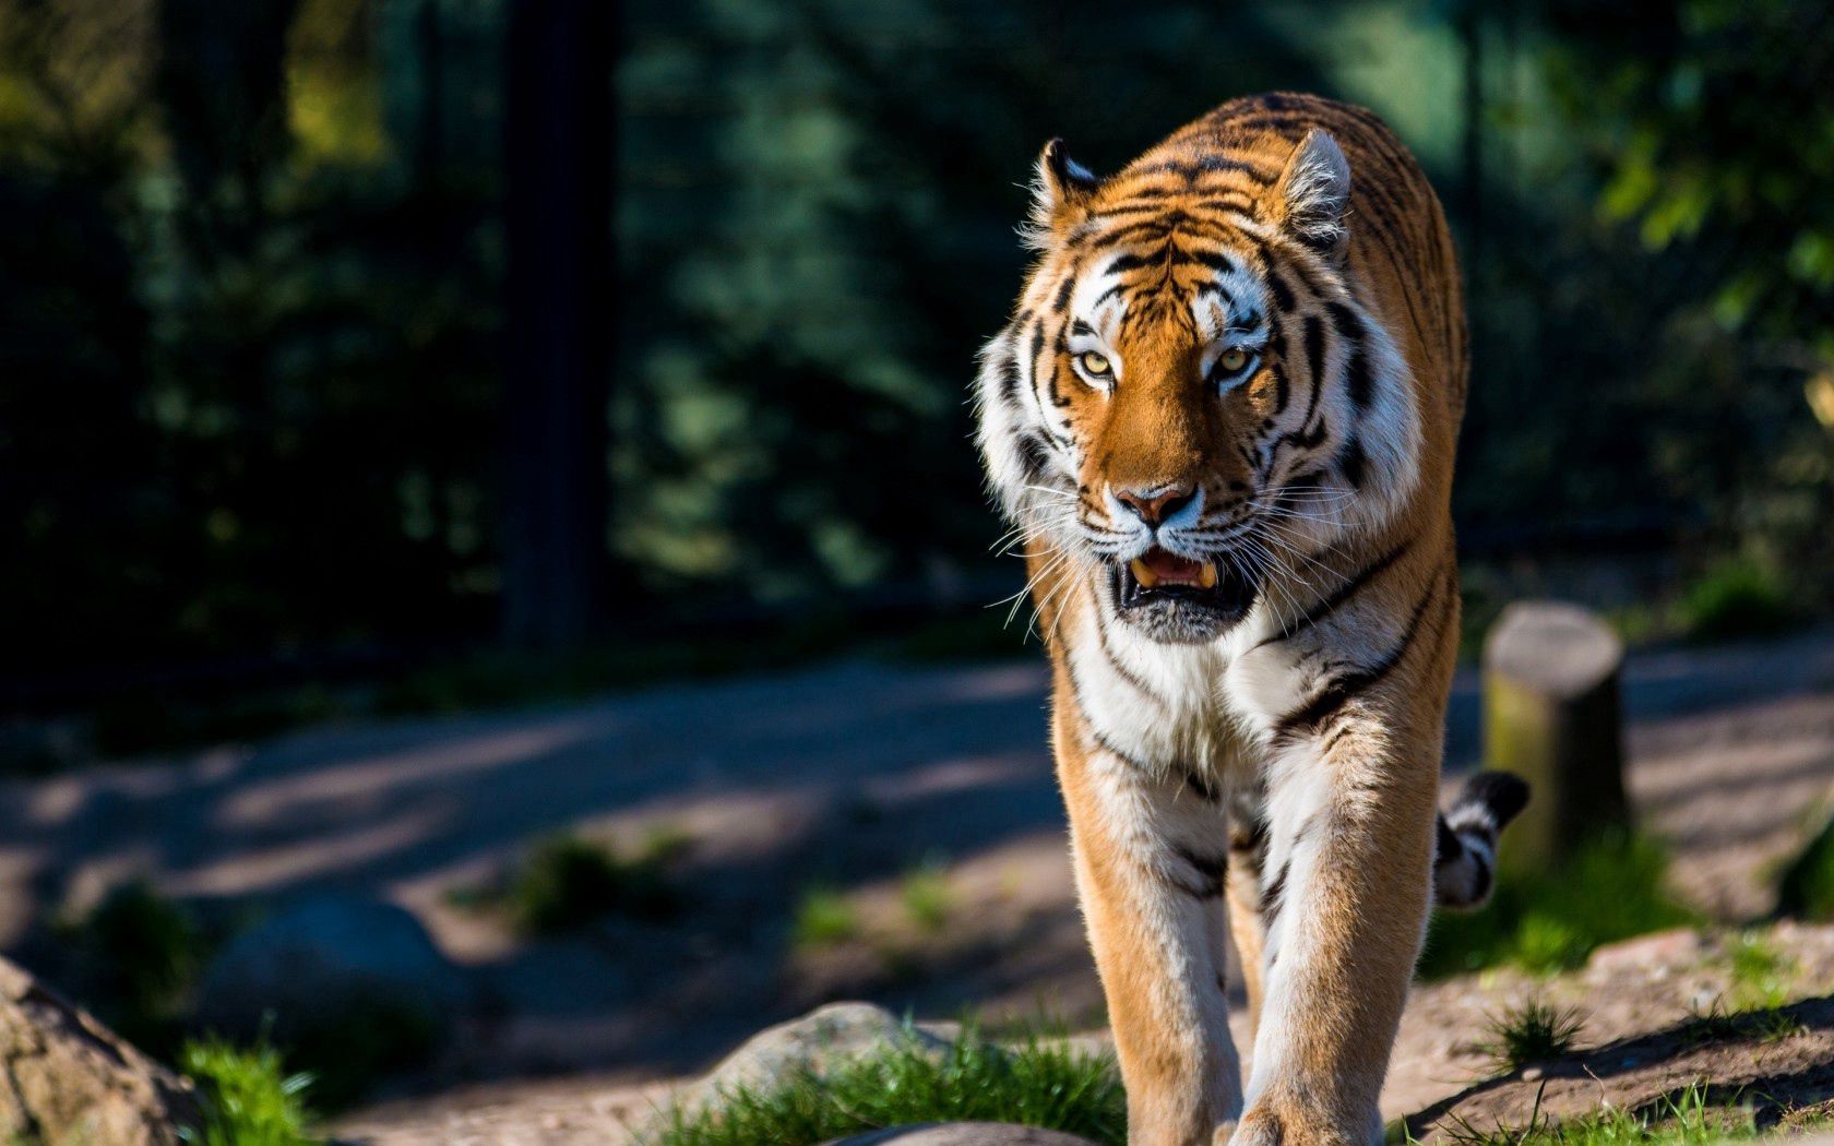
<instances>
[{"instance_id":1,"label":"thick dark vertical tree trunk left of the tiger","mask_svg":"<svg viewBox=\"0 0 1834 1146\"><path fill-rule=\"evenodd\" d=\"M613 0L512 0L504 112L504 636L605 620Z\"/></svg>"}]
</instances>

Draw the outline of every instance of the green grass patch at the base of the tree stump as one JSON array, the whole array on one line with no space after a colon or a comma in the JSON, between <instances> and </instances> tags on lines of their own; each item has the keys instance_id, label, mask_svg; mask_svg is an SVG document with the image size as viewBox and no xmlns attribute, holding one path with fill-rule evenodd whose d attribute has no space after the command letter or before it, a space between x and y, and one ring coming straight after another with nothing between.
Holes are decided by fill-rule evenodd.
<instances>
[{"instance_id":1,"label":"green grass patch at the base of the tree stump","mask_svg":"<svg viewBox=\"0 0 1834 1146\"><path fill-rule=\"evenodd\" d=\"M1583 966L1601 944L1695 922L1665 889L1667 853L1647 836L1610 834L1557 871L1506 873L1491 902L1440 911L1420 974L1434 979L1515 964L1537 974Z\"/></svg>"}]
</instances>

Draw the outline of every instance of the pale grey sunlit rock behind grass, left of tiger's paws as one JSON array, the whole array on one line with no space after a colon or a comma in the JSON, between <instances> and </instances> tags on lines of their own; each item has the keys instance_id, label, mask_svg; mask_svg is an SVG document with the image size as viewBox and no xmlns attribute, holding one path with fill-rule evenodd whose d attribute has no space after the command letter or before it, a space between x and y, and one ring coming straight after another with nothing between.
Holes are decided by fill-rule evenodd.
<instances>
[{"instance_id":1,"label":"pale grey sunlit rock behind grass, left of tiger's paws","mask_svg":"<svg viewBox=\"0 0 1834 1146\"><path fill-rule=\"evenodd\" d=\"M800 1019L778 1023L748 1038L728 1054L706 1078L682 1096L682 1109L713 1104L721 1095L739 1087L767 1089L807 1069L822 1074L838 1063L858 1058L904 1038L934 1054L950 1049L950 1041L923 1027L906 1029L904 1021L871 1003L829 1003Z\"/></svg>"}]
</instances>

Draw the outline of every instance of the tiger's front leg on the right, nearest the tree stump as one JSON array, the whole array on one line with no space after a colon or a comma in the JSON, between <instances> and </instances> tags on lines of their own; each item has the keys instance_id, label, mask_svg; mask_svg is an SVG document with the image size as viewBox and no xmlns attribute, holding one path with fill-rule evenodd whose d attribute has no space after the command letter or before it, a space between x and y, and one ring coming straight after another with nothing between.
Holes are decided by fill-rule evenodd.
<instances>
[{"instance_id":1,"label":"tiger's front leg on the right, nearest the tree stump","mask_svg":"<svg viewBox=\"0 0 1834 1146\"><path fill-rule=\"evenodd\" d=\"M1269 765L1264 997L1232 1146L1381 1142L1432 889L1438 761L1425 733L1328 724Z\"/></svg>"}]
</instances>

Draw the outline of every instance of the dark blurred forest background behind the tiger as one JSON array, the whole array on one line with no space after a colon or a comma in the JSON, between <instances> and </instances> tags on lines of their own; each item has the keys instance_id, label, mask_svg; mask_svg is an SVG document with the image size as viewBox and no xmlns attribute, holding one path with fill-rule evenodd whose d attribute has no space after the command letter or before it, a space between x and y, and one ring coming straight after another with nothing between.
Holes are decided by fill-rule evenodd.
<instances>
[{"instance_id":1,"label":"dark blurred forest background behind the tiger","mask_svg":"<svg viewBox=\"0 0 1834 1146\"><path fill-rule=\"evenodd\" d=\"M1830 72L1808 0L0 0L0 700L998 625L1029 163L1267 88L1454 222L1476 622L1814 616Z\"/></svg>"}]
</instances>

